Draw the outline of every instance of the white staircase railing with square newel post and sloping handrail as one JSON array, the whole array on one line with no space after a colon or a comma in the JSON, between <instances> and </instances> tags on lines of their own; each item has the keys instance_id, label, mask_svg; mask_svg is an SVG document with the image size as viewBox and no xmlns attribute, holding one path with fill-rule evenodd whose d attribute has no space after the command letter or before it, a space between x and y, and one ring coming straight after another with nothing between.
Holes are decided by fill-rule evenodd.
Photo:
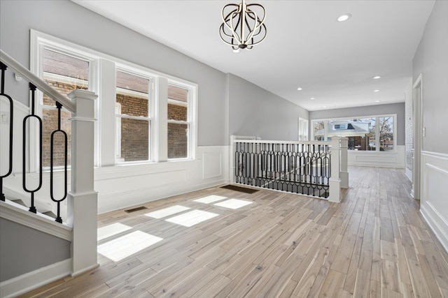
<instances>
[{"instance_id":1,"label":"white staircase railing with square newel post and sloping handrail","mask_svg":"<svg viewBox=\"0 0 448 298\"><path fill-rule=\"evenodd\" d=\"M94 191L94 100L97 95L91 91L73 90L66 98L52 89L40 77L0 50L0 61L8 70L24 78L43 94L60 103L71 112L71 184L67 194L67 218L64 225L71 227L71 274L76 276L97 267L97 192ZM4 71L2 82L4 83ZM3 85L3 84L2 84ZM6 96L2 87L2 96ZM13 101L10 100L12 103ZM10 107L11 114L13 107ZM12 116L12 115L11 115ZM9 122L12 127L13 121ZM1 126L8 124L1 123ZM21 133L22 127L13 128L14 133ZM11 131L12 132L12 131ZM11 142L10 154L20 149L12 148L12 137L1 135L3 144ZM24 147L25 152L25 147ZM28 153L29 154L29 153ZM25 155L25 153L24 153ZM2 159L1 163L12 163L12 158ZM8 168L8 166L6 166ZM2 184L8 184L8 171L1 177ZM2 174L2 173L0 173ZM27 173L22 173L26 175ZM3 195L3 189L0 189ZM50 200L50 198L48 198ZM35 216L35 215L33 215Z\"/></svg>"}]
</instances>

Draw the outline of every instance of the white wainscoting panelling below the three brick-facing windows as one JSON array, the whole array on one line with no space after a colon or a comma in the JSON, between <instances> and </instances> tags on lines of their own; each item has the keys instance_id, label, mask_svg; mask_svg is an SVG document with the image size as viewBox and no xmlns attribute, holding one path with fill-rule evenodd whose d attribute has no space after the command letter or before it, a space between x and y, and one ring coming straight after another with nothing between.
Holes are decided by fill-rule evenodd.
<instances>
[{"instance_id":1,"label":"white wainscoting panelling below the three brick-facing windows","mask_svg":"<svg viewBox=\"0 0 448 298\"><path fill-rule=\"evenodd\" d=\"M228 146L197 147L194 161L95 169L99 214L228 183Z\"/></svg>"}]
</instances>

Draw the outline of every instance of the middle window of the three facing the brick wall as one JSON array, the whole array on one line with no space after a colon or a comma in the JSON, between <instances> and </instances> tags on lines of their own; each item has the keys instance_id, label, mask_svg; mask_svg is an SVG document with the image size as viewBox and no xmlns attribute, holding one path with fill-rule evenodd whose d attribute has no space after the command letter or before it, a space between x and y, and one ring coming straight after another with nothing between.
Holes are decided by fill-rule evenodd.
<instances>
[{"instance_id":1,"label":"middle window of the three facing the brick wall","mask_svg":"<svg viewBox=\"0 0 448 298\"><path fill-rule=\"evenodd\" d=\"M150 161L152 80L117 70L116 161Z\"/></svg>"}]
</instances>

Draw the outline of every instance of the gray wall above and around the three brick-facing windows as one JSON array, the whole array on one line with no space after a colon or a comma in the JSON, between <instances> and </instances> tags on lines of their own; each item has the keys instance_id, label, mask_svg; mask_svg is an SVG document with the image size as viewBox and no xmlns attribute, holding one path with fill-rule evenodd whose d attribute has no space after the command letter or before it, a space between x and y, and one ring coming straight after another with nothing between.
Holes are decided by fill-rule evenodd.
<instances>
[{"instance_id":1,"label":"gray wall above and around the three brick-facing windows","mask_svg":"<svg viewBox=\"0 0 448 298\"><path fill-rule=\"evenodd\" d=\"M0 1L1 50L28 68L30 29L199 84L198 144L228 143L224 73L71 1ZM25 80L16 82L8 72L6 86L7 94L28 105Z\"/></svg>"}]
</instances>

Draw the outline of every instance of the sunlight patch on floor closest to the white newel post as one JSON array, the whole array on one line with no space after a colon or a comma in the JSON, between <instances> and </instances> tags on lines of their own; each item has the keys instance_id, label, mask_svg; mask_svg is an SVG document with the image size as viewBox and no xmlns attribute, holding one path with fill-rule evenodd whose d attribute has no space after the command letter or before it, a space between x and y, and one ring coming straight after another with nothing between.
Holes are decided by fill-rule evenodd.
<instances>
[{"instance_id":1,"label":"sunlight patch on floor closest to the white newel post","mask_svg":"<svg viewBox=\"0 0 448 298\"><path fill-rule=\"evenodd\" d=\"M99 245L98 253L114 262L118 262L161 240L163 239L160 237L141 231L135 231Z\"/></svg>"}]
</instances>

